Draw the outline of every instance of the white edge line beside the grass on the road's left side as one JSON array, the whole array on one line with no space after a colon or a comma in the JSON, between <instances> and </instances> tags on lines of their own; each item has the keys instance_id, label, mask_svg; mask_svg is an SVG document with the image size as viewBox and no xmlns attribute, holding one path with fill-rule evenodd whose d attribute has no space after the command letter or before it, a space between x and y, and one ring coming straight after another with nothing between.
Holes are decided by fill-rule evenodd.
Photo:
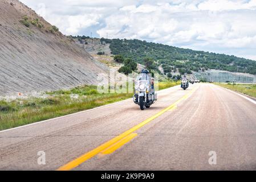
<instances>
[{"instance_id":1,"label":"white edge line beside the grass on the road's left side","mask_svg":"<svg viewBox=\"0 0 256 182\"><path fill-rule=\"evenodd\" d=\"M177 85L176 85L176 86L177 86ZM172 86L172 87L170 87L170 88L173 88L173 87L174 87L174 86ZM170 89L170 88L166 88L166 89ZM163 89L163 90L166 90L166 89ZM157 91L157 92L160 92L160 91L162 91L162 90L159 90L159 91ZM119 104L119 103L121 103L121 102L128 101L128 100L131 100L131 99L132 99L132 98L128 98L128 99L123 100L123 101L114 102L114 103L112 103L112 104L107 104L107 105L95 107L95 108L92 108L92 109L79 111L79 112L77 112L77 113L72 113L72 114L63 115L63 116L56 117L56 118L51 118L51 119L46 119L46 120L43 120L43 121L38 121L38 122L30 123L30 124L27 124L27 125L22 125L22 126L13 127L13 128L11 128L11 129L2 130L2 131L0 131L0 133L3 133L3 132L5 132L5 131L20 129L20 128L22 128L22 127L27 127L27 126L31 126L31 125L36 125L36 124L44 123L44 122L47 122L47 121L52 121L52 120L54 120L54 119L59 119L59 118L68 117L68 116L71 116L71 115L76 115L76 114L80 114L80 113L86 113L87 111L99 109L99 108L101 108L101 107L107 107L107 106L114 105L114 104Z\"/></svg>"}]
</instances>

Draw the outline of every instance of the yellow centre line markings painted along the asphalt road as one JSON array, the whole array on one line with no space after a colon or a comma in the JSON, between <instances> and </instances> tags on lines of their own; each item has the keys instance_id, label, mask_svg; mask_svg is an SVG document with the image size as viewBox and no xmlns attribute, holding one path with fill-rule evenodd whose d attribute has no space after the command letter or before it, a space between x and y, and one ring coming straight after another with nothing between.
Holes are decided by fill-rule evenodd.
<instances>
[{"instance_id":1,"label":"yellow centre line markings painted along the asphalt road","mask_svg":"<svg viewBox=\"0 0 256 182\"><path fill-rule=\"evenodd\" d=\"M197 88L196 88L197 89ZM146 119L145 121L139 123L139 125L136 125L132 127L131 129L125 131L124 133L118 135L117 137L109 140L108 142L105 142L101 144L99 147L96 147L94 150L91 150L90 152L87 152L86 154L80 156L79 158L76 158L75 160L72 160L71 162L65 164L64 166L58 168L58 171L68 171L75 167L78 167L80 164L86 162L86 160L91 159L97 154L105 155L105 154L111 154L117 148L120 148L125 143L129 142L133 138L137 136L137 134L133 133L134 131L140 129L147 123L151 122L153 119L156 119L160 115L164 114L166 111L174 110L177 107L177 104L181 102L182 100L185 100L188 98L196 89L191 90L188 94L174 102L172 105L166 107L164 110L161 110L159 113L153 115L152 117Z\"/></svg>"}]
</instances>

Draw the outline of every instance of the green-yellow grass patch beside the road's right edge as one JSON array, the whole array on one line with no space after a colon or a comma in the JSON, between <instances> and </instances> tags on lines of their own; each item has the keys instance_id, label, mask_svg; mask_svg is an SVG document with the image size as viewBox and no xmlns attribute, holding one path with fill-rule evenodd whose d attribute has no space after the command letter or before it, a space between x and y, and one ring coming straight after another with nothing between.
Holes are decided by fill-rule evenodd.
<instances>
[{"instance_id":1,"label":"green-yellow grass patch beside the road's right edge","mask_svg":"<svg viewBox=\"0 0 256 182\"><path fill-rule=\"evenodd\" d=\"M224 88L234 90L239 93L246 94L247 96L256 98L256 84L234 84L233 83L214 83L216 85L222 86Z\"/></svg>"}]
</instances>

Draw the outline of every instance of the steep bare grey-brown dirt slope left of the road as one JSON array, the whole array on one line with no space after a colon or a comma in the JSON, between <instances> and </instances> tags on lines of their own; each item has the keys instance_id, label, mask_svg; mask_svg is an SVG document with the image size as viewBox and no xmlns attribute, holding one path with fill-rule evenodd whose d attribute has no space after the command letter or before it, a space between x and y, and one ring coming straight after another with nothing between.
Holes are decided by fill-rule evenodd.
<instances>
[{"instance_id":1,"label":"steep bare grey-brown dirt slope left of the road","mask_svg":"<svg viewBox=\"0 0 256 182\"><path fill-rule=\"evenodd\" d=\"M104 64L35 11L17 0L0 0L0 95L96 84L102 72L108 72Z\"/></svg>"}]
</instances>

